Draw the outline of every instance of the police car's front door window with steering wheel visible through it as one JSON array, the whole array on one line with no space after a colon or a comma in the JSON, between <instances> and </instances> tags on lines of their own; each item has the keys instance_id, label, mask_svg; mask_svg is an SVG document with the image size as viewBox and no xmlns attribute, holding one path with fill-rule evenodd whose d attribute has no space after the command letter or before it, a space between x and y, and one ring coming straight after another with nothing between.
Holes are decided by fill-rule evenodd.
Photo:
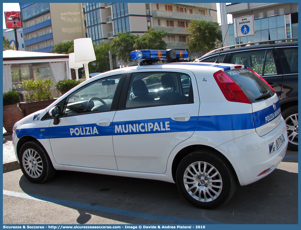
<instances>
[{"instance_id":1,"label":"police car's front door window with steering wheel visible through it","mask_svg":"<svg viewBox=\"0 0 301 230\"><path fill-rule=\"evenodd\" d=\"M120 76L99 79L73 92L66 99L63 115L111 110Z\"/></svg>"}]
</instances>

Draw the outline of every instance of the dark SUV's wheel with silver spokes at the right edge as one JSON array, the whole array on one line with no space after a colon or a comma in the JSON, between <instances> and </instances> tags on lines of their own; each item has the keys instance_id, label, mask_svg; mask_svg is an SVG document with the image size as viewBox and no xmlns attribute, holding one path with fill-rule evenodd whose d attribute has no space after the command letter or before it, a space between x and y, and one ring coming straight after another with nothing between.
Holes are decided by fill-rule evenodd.
<instances>
[{"instance_id":1,"label":"dark SUV's wheel with silver spokes at the right edge","mask_svg":"<svg viewBox=\"0 0 301 230\"><path fill-rule=\"evenodd\" d=\"M287 128L288 149L298 151L298 106L294 105L282 112Z\"/></svg>"}]
</instances>

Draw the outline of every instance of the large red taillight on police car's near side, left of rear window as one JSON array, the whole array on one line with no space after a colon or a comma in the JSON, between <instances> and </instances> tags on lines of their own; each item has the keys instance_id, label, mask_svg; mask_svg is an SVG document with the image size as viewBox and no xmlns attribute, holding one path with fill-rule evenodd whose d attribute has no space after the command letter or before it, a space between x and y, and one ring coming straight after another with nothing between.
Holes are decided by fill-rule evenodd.
<instances>
[{"instance_id":1,"label":"large red taillight on police car's near side, left of rear window","mask_svg":"<svg viewBox=\"0 0 301 230\"><path fill-rule=\"evenodd\" d=\"M245 93L225 72L219 70L213 76L228 101L252 104Z\"/></svg>"}]
</instances>

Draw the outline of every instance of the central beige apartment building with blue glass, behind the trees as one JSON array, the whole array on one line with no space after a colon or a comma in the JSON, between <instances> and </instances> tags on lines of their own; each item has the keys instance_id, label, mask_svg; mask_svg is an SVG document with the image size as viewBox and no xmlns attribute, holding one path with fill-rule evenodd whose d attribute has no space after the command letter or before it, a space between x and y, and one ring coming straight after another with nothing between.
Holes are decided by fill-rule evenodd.
<instances>
[{"instance_id":1,"label":"central beige apartment building with blue glass, behind the trees","mask_svg":"<svg viewBox=\"0 0 301 230\"><path fill-rule=\"evenodd\" d=\"M187 49L191 20L217 22L216 3L83 3L87 36L95 44L117 33L142 35L148 28L166 30L167 48Z\"/></svg>"}]
</instances>

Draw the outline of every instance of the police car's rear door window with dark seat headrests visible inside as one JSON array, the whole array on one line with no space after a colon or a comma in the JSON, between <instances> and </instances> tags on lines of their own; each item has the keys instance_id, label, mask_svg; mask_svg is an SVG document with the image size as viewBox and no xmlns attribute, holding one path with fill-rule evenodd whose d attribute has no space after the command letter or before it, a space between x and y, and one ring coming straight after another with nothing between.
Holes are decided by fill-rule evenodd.
<instances>
[{"instance_id":1,"label":"police car's rear door window with dark seat headrests visible inside","mask_svg":"<svg viewBox=\"0 0 301 230\"><path fill-rule=\"evenodd\" d=\"M133 73L126 107L147 107L193 102L191 78L184 73Z\"/></svg>"}]
</instances>

